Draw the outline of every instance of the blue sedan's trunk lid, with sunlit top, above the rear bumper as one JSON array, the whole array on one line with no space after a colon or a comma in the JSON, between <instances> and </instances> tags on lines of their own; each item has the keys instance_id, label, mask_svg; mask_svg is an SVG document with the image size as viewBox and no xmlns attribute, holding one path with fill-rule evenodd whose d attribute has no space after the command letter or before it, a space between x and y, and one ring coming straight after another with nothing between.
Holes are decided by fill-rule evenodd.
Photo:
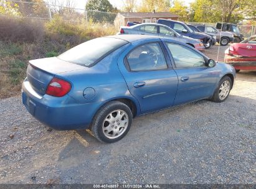
<instances>
[{"instance_id":1,"label":"blue sedan's trunk lid, with sunlit top, above the rear bumper","mask_svg":"<svg viewBox=\"0 0 256 189\"><path fill-rule=\"evenodd\" d=\"M27 67L27 80L37 93L44 95L48 84L56 74L85 68L56 57L31 60Z\"/></svg>"}]
</instances>

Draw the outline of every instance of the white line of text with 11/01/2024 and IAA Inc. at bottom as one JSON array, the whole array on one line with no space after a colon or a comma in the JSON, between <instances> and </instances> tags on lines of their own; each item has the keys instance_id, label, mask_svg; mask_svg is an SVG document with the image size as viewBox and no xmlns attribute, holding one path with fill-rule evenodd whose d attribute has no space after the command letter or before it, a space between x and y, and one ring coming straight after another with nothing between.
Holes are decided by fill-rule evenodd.
<instances>
[{"instance_id":1,"label":"white line of text with 11/01/2024 and IAA Inc. at bottom","mask_svg":"<svg viewBox=\"0 0 256 189\"><path fill-rule=\"evenodd\" d=\"M159 185L156 184L145 184L145 185L132 185L132 184L123 184L123 185L93 185L93 188L160 188Z\"/></svg>"}]
</instances>

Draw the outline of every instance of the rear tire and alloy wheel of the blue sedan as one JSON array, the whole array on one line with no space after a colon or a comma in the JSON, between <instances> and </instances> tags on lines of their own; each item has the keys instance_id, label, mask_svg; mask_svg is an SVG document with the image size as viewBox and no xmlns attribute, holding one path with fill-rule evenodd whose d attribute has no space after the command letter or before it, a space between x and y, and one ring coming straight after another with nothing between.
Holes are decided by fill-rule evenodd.
<instances>
[{"instance_id":1,"label":"rear tire and alloy wheel of the blue sedan","mask_svg":"<svg viewBox=\"0 0 256 189\"><path fill-rule=\"evenodd\" d=\"M100 142L117 142L126 136L132 121L133 114L126 104L110 101L95 114L91 131Z\"/></svg>"}]
</instances>

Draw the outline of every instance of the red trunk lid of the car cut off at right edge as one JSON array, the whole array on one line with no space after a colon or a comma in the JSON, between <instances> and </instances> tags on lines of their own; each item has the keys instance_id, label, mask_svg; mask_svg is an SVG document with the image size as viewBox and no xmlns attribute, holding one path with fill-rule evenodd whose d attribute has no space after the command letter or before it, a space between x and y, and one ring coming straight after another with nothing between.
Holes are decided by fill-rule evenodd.
<instances>
[{"instance_id":1,"label":"red trunk lid of the car cut off at right edge","mask_svg":"<svg viewBox=\"0 0 256 189\"><path fill-rule=\"evenodd\" d=\"M256 57L255 44L234 44L234 54L242 57Z\"/></svg>"}]
</instances>

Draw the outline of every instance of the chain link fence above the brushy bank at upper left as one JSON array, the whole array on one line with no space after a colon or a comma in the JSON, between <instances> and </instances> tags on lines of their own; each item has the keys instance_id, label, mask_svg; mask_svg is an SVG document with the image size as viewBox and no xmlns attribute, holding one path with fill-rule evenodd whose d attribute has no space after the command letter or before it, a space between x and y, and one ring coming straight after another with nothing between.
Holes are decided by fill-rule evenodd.
<instances>
[{"instance_id":1,"label":"chain link fence above the brushy bank at upper left","mask_svg":"<svg viewBox=\"0 0 256 189\"><path fill-rule=\"evenodd\" d=\"M9 4L9 7L7 7L7 4ZM39 4L35 2L1 0L0 6L1 5L5 6L6 9L13 9L11 12L16 12L16 14L12 14L14 16L40 19L45 21L50 21L55 16L60 16L66 21L77 22L85 20L113 24L116 17L116 13L89 11L85 9L57 6L46 3Z\"/></svg>"}]
</instances>

